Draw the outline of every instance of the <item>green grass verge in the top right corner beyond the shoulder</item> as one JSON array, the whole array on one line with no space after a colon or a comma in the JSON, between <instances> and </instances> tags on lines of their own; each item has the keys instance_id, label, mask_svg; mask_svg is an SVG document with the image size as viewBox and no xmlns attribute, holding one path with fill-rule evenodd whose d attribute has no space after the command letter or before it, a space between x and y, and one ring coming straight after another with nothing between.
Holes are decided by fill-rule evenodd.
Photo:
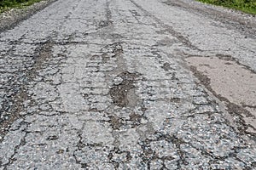
<instances>
[{"instance_id":1,"label":"green grass verge in the top right corner beyond the shoulder","mask_svg":"<svg viewBox=\"0 0 256 170\"><path fill-rule=\"evenodd\" d=\"M227 8L235 8L247 14L256 14L256 0L198 0Z\"/></svg>"}]
</instances>

